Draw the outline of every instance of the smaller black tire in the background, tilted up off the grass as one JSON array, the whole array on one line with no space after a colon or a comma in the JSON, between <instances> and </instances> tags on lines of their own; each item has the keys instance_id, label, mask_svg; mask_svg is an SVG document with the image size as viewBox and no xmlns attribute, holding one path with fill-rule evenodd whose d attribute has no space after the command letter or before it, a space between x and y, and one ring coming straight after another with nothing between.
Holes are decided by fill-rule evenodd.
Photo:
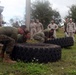
<instances>
[{"instance_id":1,"label":"smaller black tire in the background, tilted up off the grass","mask_svg":"<svg viewBox=\"0 0 76 75\"><path fill-rule=\"evenodd\" d=\"M63 47L73 46L74 40L72 37L63 37L63 38L57 38L53 40L47 40L45 41L45 43L60 45L63 48Z\"/></svg>"}]
</instances>

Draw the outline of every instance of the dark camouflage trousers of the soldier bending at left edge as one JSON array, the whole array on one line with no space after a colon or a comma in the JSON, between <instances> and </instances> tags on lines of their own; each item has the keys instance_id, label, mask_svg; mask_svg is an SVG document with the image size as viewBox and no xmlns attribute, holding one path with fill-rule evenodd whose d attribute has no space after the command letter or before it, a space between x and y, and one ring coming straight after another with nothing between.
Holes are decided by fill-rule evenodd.
<instances>
[{"instance_id":1,"label":"dark camouflage trousers of the soldier bending at left edge","mask_svg":"<svg viewBox=\"0 0 76 75\"><path fill-rule=\"evenodd\" d=\"M14 44L15 44L15 40L6 36L6 35L0 35L0 43L2 43L3 49L2 52L6 52L7 54L11 54Z\"/></svg>"}]
</instances>

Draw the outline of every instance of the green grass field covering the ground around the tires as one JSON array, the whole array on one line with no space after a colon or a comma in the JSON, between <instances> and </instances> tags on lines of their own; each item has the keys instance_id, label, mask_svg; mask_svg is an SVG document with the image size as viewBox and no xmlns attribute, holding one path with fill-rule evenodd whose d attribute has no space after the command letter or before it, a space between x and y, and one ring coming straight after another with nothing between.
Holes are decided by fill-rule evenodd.
<instances>
[{"instance_id":1,"label":"green grass field covering the ground around the tires","mask_svg":"<svg viewBox=\"0 0 76 75\"><path fill-rule=\"evenodd\" d=\"M57 36L63 37L63 30L59 30ZM0 75L76 75L76 43L68 49L62 49L62 58L58 62L47 64L0 62Z\"/></svg>"}]
</instances>

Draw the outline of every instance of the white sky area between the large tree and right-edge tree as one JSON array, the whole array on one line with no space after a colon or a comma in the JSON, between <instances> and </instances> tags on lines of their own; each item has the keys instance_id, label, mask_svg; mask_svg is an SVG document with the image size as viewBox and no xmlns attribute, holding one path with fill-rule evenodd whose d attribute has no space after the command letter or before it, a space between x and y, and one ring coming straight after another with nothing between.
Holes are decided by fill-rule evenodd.
<instances>
[{"instance_id":1,"label":"white sky area between the large tree and right-edge tree","mask_svg":"<svg viewBox=\"0 0 76 75\"><path fill-rule=\"evenodd\" d=\"M60 12L62 18L68 15L69 7L73 4L76 5L76 0L49 0L52 4L53 9Z\"/></svg>"}]
</instances>

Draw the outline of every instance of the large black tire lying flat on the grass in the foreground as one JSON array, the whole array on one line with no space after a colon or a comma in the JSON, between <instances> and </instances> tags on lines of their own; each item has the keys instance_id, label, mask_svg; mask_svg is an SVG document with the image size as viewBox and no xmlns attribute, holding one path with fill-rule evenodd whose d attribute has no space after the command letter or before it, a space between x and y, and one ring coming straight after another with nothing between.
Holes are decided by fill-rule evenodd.
<instances>
[{"instance_id":1,"label":"large black tire lying flat on the grass in the foreground","mask_svg":"<svg viewBox=\"0 0 76 75\"><path fill-rule=\"evenodd\" d=\"M11 58L24 62L55 62L61 59L61 47L53 44L17 44Z\"/></svg>"}]
</instances>

